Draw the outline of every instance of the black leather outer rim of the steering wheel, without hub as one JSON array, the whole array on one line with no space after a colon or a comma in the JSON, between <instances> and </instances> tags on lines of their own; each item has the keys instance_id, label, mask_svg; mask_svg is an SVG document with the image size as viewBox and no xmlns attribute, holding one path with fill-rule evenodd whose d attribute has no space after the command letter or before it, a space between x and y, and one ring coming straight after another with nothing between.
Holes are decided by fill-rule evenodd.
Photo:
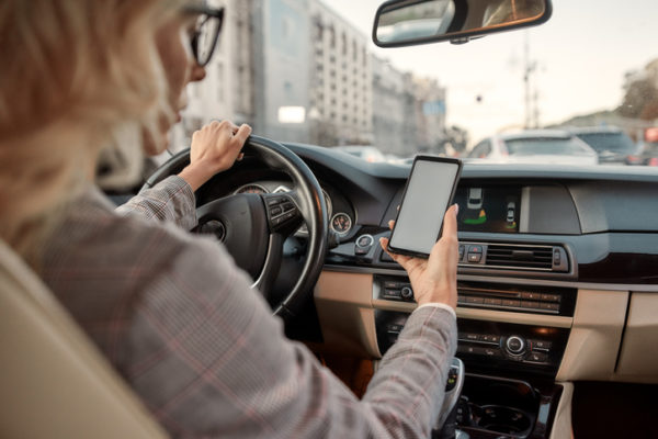
<instances>
[{"instance_id":1,"label":"black leather outer rim of the steering wheel, without hub","mask_svg":"<svg viewBox=\"0 0 658 439\"><path fill-rule=\"evenodd\" d=\"M322 271L328 233L325 198L320 184L310 168L296 154L280 143L264 137L251 136L242 150L246 155L253 155L260 158L268 167L287 173L299 194L298 201L302 204L299 207L308 228L306 260L299 279L285 299L274 307L273 312L274 315L287 319L299 313L307 300L307 295L313 292ZM185 149L174 155L158 168L141 189L152 188L166 178L179 173L189 164L190 149ZM263 272L269 269L268 263L265 262Z\"/></svg>"}]
</instances>

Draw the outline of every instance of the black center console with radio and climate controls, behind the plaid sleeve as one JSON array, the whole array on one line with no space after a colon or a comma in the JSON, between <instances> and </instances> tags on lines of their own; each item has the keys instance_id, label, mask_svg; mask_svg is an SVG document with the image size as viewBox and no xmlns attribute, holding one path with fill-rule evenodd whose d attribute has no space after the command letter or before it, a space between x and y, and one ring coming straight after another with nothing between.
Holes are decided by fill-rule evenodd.
<instances>
[{"instance_id":1,"label":"black center console with radio and climate controls, behind the plaid sleeve","mask_svg":"<svg viewBox=\"0 0 658 439\"><path fill-rule=\"evenodd\" d=\"M576 290L460 282L456 356L466 368L457 427L470 438L547 438L561 387L554 380L569 337ZM376 275L373 300L413 302L407 278ZM408 306L408 305L407 305ZM382 353L409 316L375 311Z\"/></svg>"}]
</instances>

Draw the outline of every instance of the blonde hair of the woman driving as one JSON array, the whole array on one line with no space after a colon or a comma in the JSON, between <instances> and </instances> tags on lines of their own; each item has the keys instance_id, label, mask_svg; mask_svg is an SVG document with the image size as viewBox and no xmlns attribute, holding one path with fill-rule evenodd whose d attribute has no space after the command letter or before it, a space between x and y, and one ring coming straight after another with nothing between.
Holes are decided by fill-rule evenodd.
<instances>
[{"instance_id":1,"label":"blonde hair of the woman driving","mask_svg":"<svg viewBox=\"0 0 658 439\"><path fill-rule=\"evenodd\" d=\"M99 153L138 175L170 116L155 35L182 0L0 2L0 237L26 256Z\"/></svg>"}]
</instances>

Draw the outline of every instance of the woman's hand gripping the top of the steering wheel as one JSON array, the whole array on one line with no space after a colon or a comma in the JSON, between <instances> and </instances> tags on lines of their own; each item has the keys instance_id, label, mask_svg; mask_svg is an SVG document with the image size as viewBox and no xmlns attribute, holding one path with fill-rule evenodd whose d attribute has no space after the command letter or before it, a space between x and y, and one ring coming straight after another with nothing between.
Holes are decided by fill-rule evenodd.
<instances>
[{"instance_id":1,"label":"woman's hand gripping the top of the steering wheel","mask_svg":"<svg viewBox=\"0 0 658 439\"><path fill-rule=\"evenodd\" d=\"M240 151L250 135L249 125L238 127L229 121L211 122L192 135L190 165L179 176L196 191L241 158Z\"/></svg>"}]
</instances>

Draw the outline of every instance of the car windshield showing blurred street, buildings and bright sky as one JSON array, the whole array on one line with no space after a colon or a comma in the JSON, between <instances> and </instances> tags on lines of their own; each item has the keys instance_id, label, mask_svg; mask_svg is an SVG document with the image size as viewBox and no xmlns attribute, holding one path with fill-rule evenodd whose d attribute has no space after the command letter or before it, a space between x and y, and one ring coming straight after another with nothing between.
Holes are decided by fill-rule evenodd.
<instances>
[{"instance_id":1,"label":"car windshield showing blurred street, buildings and bright sky","mask_svg":"<svg viewBox=\"0 0 658 439\"><path fill-rule=\"evenodd\" d=\"M536 27L388 49L371 36L382 0L209 2L227 19L206 79L190 87L178 148L215 119L279 142L371 147L379 154L353 154L398 164L467 157L531 130L619 130L581 137L597 150L647 150L645 133L658 127L656 1L554 0ZM522 150L582 153L559 142ZM599 164L629 165L626 156Z\"/></svg>"}]
</instances>

